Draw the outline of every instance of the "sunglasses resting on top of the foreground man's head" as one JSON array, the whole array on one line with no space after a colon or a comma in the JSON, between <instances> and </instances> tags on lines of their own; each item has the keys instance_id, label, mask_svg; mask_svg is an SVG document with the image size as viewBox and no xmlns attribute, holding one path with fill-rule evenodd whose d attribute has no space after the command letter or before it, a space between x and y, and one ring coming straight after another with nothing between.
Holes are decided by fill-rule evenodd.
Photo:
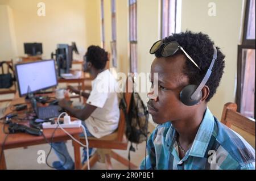
<instances>
[{"instance_id":1,"label":"sunglasses resting on top of the foreground man's head","mask_svg":"<svg viewBox=\"0 0 256 181\"><path fill-rule=\"evenodd\" d=\"M199 68L199 66L196 64L195 61L193 61L193 59L188 55L187 52L185 52L185 50L180 46L179 43L177 43L177 41L171 41L171 42L168 42L168 43L163 43L162 40L158 40L156 41L156 43L154 43L150 49L150 54L154 54L160 47L162 47L162 45L164 45L163 47L163 50L161 52L162 56L163 57L170 57L170 56L173 56L177 50L182 50L183 53L185 54L185 56L188 57L188 59L190 61L192 61L192 63L197 67ZM199 68L199 70L201 70Z\"/></svg>"}]
</instances>

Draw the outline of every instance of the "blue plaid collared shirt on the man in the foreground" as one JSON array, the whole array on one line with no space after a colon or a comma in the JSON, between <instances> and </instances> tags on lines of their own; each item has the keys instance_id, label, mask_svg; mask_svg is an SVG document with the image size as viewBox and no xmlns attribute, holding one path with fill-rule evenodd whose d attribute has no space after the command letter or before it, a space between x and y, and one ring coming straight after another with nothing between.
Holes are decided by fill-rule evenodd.
<instances>
[{"instance_id":1,"label":"blue plaid collared shirt on the man in the foreground","mask_svg":"<svg viewBox=\"0 0 256 181\"><path fill-rule=\"evenodd\" d=\"M156 127L147 142L146 169L255 169L255 150L208 108L183 159L179 158L176 137L170 122Z\"/></svg>"}]
</instances>

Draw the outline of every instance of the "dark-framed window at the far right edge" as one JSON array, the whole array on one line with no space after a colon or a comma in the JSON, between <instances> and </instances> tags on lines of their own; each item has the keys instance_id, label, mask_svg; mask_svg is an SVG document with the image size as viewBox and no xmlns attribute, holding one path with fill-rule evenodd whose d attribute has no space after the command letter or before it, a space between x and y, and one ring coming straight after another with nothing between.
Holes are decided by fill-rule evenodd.
<instances>
[{"instance_id":1,"label":"dark-framed window at the far right edge","mask_svg":"<svg viewBox=\"0 0 256 181\"><path fill-rule=\"evenodd\" d=\"M238 111L255 118L255 0L247 0L242 45L238 45Z\"/></svg>"}]
</instances>

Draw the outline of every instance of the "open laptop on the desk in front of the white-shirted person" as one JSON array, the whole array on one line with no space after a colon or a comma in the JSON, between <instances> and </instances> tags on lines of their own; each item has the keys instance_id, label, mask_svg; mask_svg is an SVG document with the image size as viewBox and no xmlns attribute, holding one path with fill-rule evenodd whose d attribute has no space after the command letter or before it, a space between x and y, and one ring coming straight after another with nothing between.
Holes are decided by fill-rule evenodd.
<instances>
[{"instance_id":1,"label":"open laptop on the desk in front of the white-shirted person","mask_svg":"<svg viewBox=\"0 0 256 181\"><path fill-rule=\"evenodd\" d=\"M30 98L31 106L38 116L39 119L50 119L53 117L58 117L62 112L62 108L60 106L51 105L46 107L38 107L36 104L36 98L33 96Z\"/></svg>"}]
</instances>

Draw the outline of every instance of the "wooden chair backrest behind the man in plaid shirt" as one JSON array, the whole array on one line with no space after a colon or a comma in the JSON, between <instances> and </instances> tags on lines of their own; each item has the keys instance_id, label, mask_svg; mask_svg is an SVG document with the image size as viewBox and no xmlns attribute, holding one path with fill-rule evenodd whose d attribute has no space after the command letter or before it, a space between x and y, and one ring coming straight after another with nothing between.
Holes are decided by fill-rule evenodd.
<instances>
[{"instance_id":1,"label":"wooden chair backrest behind the man in plaid shirt","mask_svg":"<svg viewBox=\"0 0 256 181\"><path fill-rule=\"evenodd\" d=\"M229 128L231 125L234 125L255 136L255 120L249 119L237 112L237 104L235 103L226 103L224 105L221 123L225 124Z\"/></svg>"}]
</instances>

